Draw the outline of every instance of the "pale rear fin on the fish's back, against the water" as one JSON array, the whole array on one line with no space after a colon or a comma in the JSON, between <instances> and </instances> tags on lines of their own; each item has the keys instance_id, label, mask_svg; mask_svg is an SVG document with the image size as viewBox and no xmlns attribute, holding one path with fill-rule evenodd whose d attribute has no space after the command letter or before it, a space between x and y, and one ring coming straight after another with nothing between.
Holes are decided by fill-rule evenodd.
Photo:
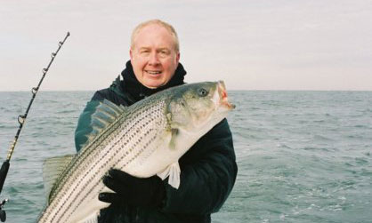
<instances>
[{"instance_id":1,"label":"pale rear fin on the fish's back, against the water","mask_svg":"<svg viewBox=\"0 0 372 223\"><path fill-rule=\"evenodd\" d=\"M46 200L49 201L50 194L53 190L55 182L60 177L62 171L71 162L75 155L62 155L44 160L43 163L43 179L44 179L44 191Z\"/></svg>"}]
</instances>

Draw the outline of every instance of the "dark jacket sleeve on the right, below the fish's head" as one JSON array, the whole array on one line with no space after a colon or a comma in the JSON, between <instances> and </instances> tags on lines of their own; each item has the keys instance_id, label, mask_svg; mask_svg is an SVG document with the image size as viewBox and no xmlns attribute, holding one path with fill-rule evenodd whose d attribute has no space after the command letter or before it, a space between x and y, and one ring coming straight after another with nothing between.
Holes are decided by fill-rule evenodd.
<instances>
[{"instance_id":1,"label":"dark jacket sleeve on the right, below the fish's head","mask_svg":"<svg viewBox=\"0 0 372 223\"><path fill-rule=\"evenodd\" d=\"M166 184L162 211L208 214L218 211L230 195L238 166L227 120L214 126L190 150L180 159L180 187Z\"/></svg>"}]
</instances>

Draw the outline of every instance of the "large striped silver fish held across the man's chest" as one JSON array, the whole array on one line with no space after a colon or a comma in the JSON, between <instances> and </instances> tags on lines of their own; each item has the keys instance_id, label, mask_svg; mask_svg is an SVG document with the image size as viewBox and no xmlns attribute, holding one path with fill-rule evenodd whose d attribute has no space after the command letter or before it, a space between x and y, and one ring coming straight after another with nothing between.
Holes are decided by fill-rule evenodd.
<instances>
[{"instance_id":1,"label":"large striped silver fish held across the man's chest","mask_svg":"<svg viewBox=\"0 0 372 223\"><path fill-rule=\"evenodd\" d=\"M158 175L178 188L178 160L233 108L223 81L182 84L126 108L103 100L82 149L44 161L46 204L37 222L98 222L109 206L98 195L112 192L102 183L110 169L138 178Z\"/></svg>"}]
</instances>

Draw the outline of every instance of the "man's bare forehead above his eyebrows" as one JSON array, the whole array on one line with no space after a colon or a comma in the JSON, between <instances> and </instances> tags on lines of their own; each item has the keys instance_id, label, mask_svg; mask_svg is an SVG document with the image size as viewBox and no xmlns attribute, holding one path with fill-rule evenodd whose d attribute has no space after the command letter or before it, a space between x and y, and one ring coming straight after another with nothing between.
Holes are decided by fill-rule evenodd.
<instances>
[{"instance_id":1,"label":"man's bare forehead above his eyebrows","mask_svg":"<svg viewBox=\"0 0 372 223\"><path fill-rule=\"evenodd\" d=\"M171 48L175 45L174 36L163 26L150 24L141 28L134 37L133 44L141 47Z\"/></svg>"}]
</instances>

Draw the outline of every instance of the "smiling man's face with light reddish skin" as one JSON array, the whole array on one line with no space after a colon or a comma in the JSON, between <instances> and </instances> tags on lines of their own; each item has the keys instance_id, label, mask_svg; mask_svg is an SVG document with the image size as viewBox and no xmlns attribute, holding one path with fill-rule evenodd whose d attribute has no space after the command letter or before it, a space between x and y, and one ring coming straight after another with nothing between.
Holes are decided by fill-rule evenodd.
<instances>
[{"instance_id":1,"label":"smiling man's face with light reddish skin","mask_svg":"<svg viewBox=\"0 0 372 223\"><path fill-rule=\"evenodd\" d=\"M142 28L129 53L135 77L148 88L168 83L180 60L180 53L174 49L174 36L158 24Z\"/></svg>"}]
</instances>

